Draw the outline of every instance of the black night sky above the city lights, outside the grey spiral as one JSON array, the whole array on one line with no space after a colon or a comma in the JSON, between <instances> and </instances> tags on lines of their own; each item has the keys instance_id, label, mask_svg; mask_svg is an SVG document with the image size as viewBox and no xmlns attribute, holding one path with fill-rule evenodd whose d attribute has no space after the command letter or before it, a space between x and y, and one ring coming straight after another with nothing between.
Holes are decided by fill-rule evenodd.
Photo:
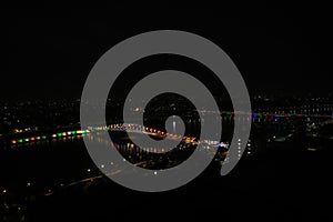
<instances>
[{"instance_id":1,"label":"black night sky above the city lights, outside the grey spiral","mask_svg":"<svg viewBox=\"0 0 333 222\"><path fill-rule=\"evenodd\" d=\"M251 93L330 92L330 21L274 13L279 17L266 12L251 19L225 18L219 8L8 10L1 13L0 100L79 98L89 71L108 49L159 29L194 32L219 44Z\"/></svg>"}]
</instances>

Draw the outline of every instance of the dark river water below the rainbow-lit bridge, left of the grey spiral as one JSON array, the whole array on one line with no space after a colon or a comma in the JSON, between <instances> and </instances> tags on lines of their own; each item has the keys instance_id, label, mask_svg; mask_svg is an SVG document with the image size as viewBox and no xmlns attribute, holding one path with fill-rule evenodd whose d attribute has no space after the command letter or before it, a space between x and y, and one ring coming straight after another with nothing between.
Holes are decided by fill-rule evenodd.
<instances>
[{"instance_id":1,"label":"dark river water below the rainbow-lit bridge, left of the grey spiral","mask_svg":"<svg viewBox=\"0 0 333 222\"><path fill-rule=\"evenodd\" d=\"M1 185L51 185L80 178L90 163L83 140L78 138L14 147L1 151Z\"/></svg>"}]
</instances>

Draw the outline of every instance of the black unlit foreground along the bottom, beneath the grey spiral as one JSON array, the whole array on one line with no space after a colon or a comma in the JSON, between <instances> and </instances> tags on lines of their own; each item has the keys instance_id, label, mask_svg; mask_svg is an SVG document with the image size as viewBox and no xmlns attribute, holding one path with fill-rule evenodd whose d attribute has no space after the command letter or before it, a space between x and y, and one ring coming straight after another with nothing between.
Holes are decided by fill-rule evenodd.
<instances>
[{"instance_id":1,"label":"black unlit foreground along the bottom, beneath the grey spiral","mask_svg":"<svg viewBox=\"0 0 333 222\"><path fill-rule=\"evenodd\" d=\"M211 165L168 192L131 191L108 179L81 183L28 206L29 221L329 221L332 150L271 151L243 161L226 176Z\"/></svg>"}]
</instances>

